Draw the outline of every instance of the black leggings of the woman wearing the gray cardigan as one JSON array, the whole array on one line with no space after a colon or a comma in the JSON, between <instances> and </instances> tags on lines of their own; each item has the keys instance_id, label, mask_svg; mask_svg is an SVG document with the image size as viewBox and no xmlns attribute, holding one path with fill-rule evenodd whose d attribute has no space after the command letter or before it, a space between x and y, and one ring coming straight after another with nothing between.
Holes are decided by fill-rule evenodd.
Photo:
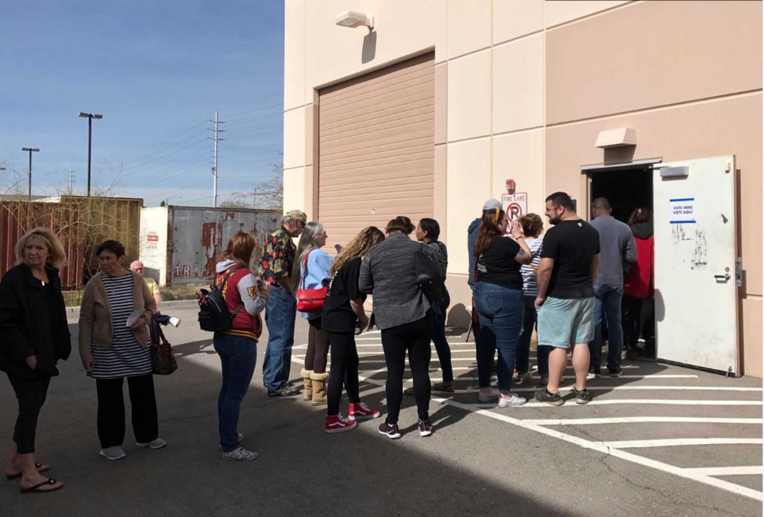
<instances>
[{"instance_id":1,"label":"black leggings of the woman wearing the gray cardigan","mask_svg":"<svg viewBox=\"0 0 764 517\"><path fill-rule=\"evenodd\" d=\"M414 377L414 398L419 420L429 420L429 361L432 351L432 312L416 322L385 328L382 331L382 348L387 364L387 423L397 424L400 403L403 401L403 370L406 367L406 351Z\"/></svg>"}]
</instances>

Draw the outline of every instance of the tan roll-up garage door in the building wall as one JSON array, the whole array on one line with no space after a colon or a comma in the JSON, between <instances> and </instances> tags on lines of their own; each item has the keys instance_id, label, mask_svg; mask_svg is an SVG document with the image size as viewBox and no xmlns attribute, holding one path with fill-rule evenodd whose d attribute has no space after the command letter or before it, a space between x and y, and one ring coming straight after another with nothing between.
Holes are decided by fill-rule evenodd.
<instances>
[{"instance_id":1,"label":"tan roll-up garage door in the building wall","mask_svg":"<svg viewBox=\"0 0 764 517\"><path fill-rule=\"evenodd\" d=\"M319 92L319 221L343 246L366 226L432 217L434 53ZM329 247L327 249L329 251Z\"/></svg>"}]
</instances>

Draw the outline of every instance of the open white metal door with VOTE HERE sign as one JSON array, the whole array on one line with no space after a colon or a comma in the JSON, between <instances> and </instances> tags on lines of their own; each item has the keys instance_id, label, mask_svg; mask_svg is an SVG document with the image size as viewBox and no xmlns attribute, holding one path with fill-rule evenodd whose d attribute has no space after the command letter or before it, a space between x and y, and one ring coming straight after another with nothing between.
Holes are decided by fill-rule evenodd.
<instances>
[{"instance_id":1,"label":"open white metal door with VOTE HERE sign","mask_svg":"<svg viewBox=\"0 0 764 517\"><path fill-rule=\"evenodd\" d=\"M653 174L658 358L736 374L734 157Z\"/></svg>"}]
</instances>

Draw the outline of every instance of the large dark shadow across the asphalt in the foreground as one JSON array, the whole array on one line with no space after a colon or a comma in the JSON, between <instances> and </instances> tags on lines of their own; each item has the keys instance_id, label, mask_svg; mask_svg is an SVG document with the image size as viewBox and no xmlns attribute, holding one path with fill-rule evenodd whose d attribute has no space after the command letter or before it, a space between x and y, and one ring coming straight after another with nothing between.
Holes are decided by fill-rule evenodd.
<instances>
[{"instance_id":1,"label":"large dark shadow across the asphalt in the foreground","mask_svg":"<svg viewBox=\"0 0 764 517\"><path fill-rule=\"evenodd\" d=\"M553 482L533 495L508 486L507 472L523 444L507 437L482 438L481 444L449 440L454 434L445 431L448 425L468 415L459 409L435 409L432 419L439 427L429 438L419 438L403 415L406 435L398 441L377 433L381 420L326 435L324 409L301 397L266 396L259 374L265 339L258 345L256 376L241 407L239 428L244 446L257 451L259 459L235 463L221 458L219 366L204 347L210 340L204 340L177 344L179 369L154 377L160 435L167 448L136 448L128 409L128 457L110 462L98 455L95 383L79 364L72 327L73 354L51 383L37 433L37 459L49 462L50 475L66 486L57 493L28 496L18 493L18 481L4 482L0 515L576 515L570 508L548 506L539 495L552 490ZM293 376L298 372L293 364ZM365 396L375 407L383 398L384 389ZM129 405L126 393L125 399ZM346 399L341 408L347 411ZM9 454L16 403L6 382L0 383L0 413L5 415L0 446ZM474 464L457 459L465 448L500 448L507 471L476 473ZM453 449L460 454L452 454Z\"/></svg>"}]
</instances>

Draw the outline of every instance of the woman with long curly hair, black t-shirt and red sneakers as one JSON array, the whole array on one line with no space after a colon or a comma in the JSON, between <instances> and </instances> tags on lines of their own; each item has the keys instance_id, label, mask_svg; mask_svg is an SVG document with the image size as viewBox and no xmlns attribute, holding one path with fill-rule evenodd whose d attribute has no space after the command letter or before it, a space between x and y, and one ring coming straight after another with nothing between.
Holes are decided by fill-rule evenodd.
<instances>
[{"instance_id":1,"label":"woman with long curly hair, black t-shirt and red sneakers","mask_svg":"<svg viewBox=\"0 0 764 517\"><path fill-rule=\"evenodd\" d=\"M322 318L323 328L329 334L332 347L328 407L324 423L324 431L328 433L348 431L358 425L356 420L377 418L380 415L380 412L369 409L369 406L361 402L358 395L358 351L355 348L355 334L360 334L369 323L364 312L366 295L358 289L361 258L371 247L382 241L384 234L379 228L364 228L338 254L330 270L332 282L329 284ZM350 399L348 418L344 418L339 412L343 382Z\"/></svg>"}]
</instances>

